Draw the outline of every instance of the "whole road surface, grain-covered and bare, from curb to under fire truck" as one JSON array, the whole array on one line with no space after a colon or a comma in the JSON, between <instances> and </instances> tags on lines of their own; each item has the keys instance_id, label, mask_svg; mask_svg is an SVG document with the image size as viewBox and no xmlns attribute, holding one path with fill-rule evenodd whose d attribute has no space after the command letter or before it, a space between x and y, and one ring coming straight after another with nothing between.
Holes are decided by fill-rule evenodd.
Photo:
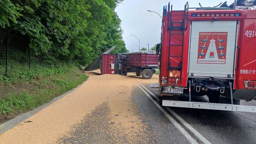
<instances>
[{"instance_id":1,"label":"whole road surface, grain-covered and bare, from curb to under fire truck","mask_svg":"<svg viewBox=\"0 0 256 144\"><path fill-rule=\"evenodd\" d=\"M113 80L116 77L118 79ZM97 85L92 84L95 81L98 82ZM33 123L21 122L0 135L0 144L256 144L256 113L160 107L157 100L146 90L158 96L157 89L149 88L150 83L157 81L157 75L151 80L142 80L136 76L103 77L91 74L87 85L78 88L78 91L83 90L81 94L73 92L68 98L64 97L28 118L27 120L35 122L33 126ZM139 83L146 89L139 86ZM95 86L102 89L92 89ZM95 93L101 91L101 94L90 97L92 90ZM85 99L91 101L79 103ZM193 100L203 102L208 99L200 97ZM256 101L241 104L256 106ZM72 115L60 110L62 105L73 111L79 110L79 114ZM86 108L89 110L85 110ZM55 118L54 113L62 115ZM77 115L79 117L72 118ZM42 118L45 120L37 123ZM49 129L50 125L62 127L62 130ZM41 136L38 136L39 132Z\"/></svg>"}]
</instances>

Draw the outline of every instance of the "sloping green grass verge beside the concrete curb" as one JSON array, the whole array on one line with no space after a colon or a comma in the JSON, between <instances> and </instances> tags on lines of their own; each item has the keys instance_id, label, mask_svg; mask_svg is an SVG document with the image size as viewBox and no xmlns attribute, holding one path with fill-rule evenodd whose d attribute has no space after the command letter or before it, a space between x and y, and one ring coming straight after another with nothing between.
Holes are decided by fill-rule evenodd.
<instances>
[{"instance_id":1,"label":"sloping green grass verge beside the concrete curb","mask_svg":"<svg viewBox=\"0 0 256 144\"><path fill-rule=\"evenodd\" d=\"M18 65L9 76L0 76L0 124L72 90L87 78L72 64L34 65L31 70Z\"/></svg>"}]
</instances>

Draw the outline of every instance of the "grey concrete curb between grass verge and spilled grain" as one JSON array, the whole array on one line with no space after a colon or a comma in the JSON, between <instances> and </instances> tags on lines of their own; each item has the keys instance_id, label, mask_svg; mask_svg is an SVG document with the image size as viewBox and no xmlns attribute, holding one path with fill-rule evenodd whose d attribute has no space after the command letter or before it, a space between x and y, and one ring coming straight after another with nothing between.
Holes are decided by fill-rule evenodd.
<instances>
[{"instance_id":1,"label":"grey concrete curb between grass verge and spilled grain","mask_svg":"<svg viewBox=\"0 0 256 144\"><path fill-rule=\"evenodd\" d=\"M89 79L89 77L88 77ZM88 81L88 79L86 81ZM86 81L84 81L82 84L84 84ZM24 120L26 120L27 118L35 115L37 112L41 111L42 109L50 106L51 104L55 103L57 100L65 97L66 95L68 95L69 93L71 93L72 91L78 89L82 84L78 85L76 88L67 91L66 93L54 98L53 100L51 100L50 102L35 108L27 113L21 114L5 123L3 123L2 125L0 125L0 135L3 134L4 132L8 131L9 129L13 128L14 126L17 126L19 123L23 122Z\"/></svg>"}]
</instances>

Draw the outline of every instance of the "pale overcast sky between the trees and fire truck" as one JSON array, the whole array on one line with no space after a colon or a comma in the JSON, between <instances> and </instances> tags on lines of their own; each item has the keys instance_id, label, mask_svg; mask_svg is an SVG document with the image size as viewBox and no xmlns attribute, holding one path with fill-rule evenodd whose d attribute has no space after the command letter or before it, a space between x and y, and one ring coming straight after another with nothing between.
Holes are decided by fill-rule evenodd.
<instances>
[{"instance_id":1,"label":"pale overcast sky between the trees and fire truck","mask_svg":"<svg viewBox=\"0 0 256 144\"><path fill-rule=\"evenodd\" d=\"M124 0L116 8L119 18L122 20L121 27L123 29L123 38L126 48L131 51L138 51L138 40L140 40L140 48L153 47L160 43L161 35L161 18L152 12L152 10L162 16L163 6L171 2L174 10L183 10L184 4L189 1L189 7L199 7L199 2L203 7L216 6L225 0ZM226 0L230 5L234 0Z\"/></svg>"}]
</instances>

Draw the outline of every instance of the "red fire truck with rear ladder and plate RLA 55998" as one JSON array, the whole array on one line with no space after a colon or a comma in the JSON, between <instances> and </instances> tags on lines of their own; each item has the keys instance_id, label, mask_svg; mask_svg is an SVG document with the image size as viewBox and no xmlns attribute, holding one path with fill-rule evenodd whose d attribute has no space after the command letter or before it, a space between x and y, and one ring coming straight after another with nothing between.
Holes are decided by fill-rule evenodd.
<instances>
[{"instance_id":1,"label":"red fire truck with rear ladder and plate RLA 55998","mask_svg":"<svg viewBox=\"0 0 256 144\"><path fill-rule=\"evenodd\" d=\"M160 104L170 107L256 112L256 9L164 6ZM187 101L180 100L187 94ZM192 101L207 95L209 102Z\"/></svg>"}]
</instances>

